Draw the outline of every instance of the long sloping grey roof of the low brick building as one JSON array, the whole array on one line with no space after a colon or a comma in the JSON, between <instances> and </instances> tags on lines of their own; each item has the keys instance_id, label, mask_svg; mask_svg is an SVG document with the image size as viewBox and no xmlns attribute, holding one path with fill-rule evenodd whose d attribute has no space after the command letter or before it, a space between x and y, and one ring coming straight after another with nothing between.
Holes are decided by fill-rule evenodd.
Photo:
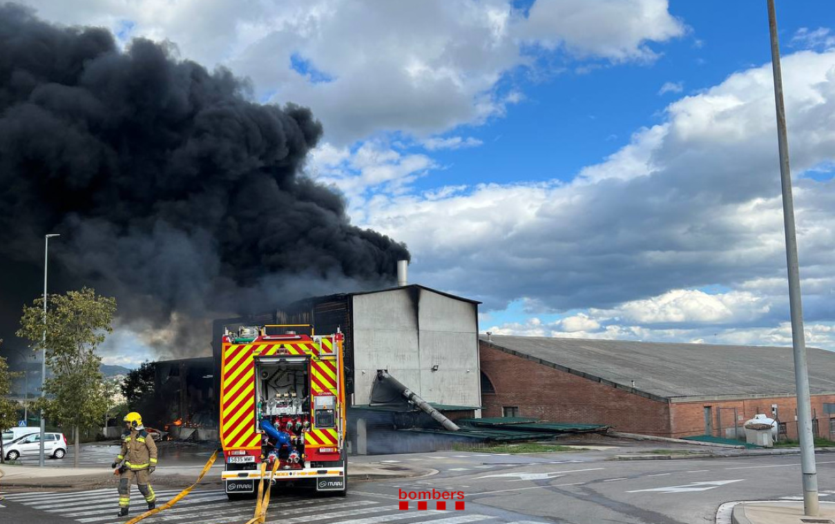
<instances>
[{"instance_id":1,"label":"long sloping grey roof of the low brick building","mask_svg":"<svg viewBox=\"0 0 835 524\"><path fill-rule=\"evenodd\" d=\"M480 339L495 349L659 400L795 393L792 348L507 335ZM835 352L807 348L807 360L812 394L835 392Z\"/></svg>"}]
</instances>

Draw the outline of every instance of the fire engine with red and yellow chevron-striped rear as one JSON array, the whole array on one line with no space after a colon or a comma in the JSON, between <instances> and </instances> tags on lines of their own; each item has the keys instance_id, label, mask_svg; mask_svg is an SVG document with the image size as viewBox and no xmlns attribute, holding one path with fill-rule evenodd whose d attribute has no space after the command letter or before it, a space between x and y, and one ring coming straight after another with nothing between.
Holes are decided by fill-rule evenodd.
<instances>
[{"instance_id":1,"label":"fire engine with red and yellow chevron-striped rear","mask_svg":"<svg viewBox=\"0 0 835 524\"><path fill-rule=\"evenodd\" d=\"M254 496L261 464L276 485L347 492L343 335L311 325L224 330L220 362L221 474L230 500Z\"/></svg>"}]
</instances>

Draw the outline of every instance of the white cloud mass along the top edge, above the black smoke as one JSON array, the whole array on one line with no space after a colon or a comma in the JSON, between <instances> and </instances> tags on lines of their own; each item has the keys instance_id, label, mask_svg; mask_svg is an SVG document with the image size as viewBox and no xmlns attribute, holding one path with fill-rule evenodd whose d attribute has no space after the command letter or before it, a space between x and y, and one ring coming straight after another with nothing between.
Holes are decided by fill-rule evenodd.
<instances>
[{"instance_id":1,"label":"white cloud mass along the top edge, above the black smoke","mask_svg":"<svg viewBox=\"0 0 835 524\"><path fill-rule=\"evenodd\" d=\"M58 23L167 39L184 58L224 64L259 98L310 106L337 145L483 123L524 98L500 80L542 53L648 60L648 43L684 31L664 0L538 0L528 18L509 0L24 2Z\"/></svg>"}]
</instances>

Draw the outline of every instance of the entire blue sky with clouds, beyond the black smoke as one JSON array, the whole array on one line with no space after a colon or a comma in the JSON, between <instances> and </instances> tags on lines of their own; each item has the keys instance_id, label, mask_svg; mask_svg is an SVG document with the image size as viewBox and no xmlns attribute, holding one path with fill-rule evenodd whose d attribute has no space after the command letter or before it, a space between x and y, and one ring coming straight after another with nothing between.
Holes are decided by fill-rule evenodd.
<instances>
[{"instance_id":1,"label":"entire blue sky with clouds, beyond the black smoke","mask_svg":"<svg viewBox=\"0 0 835 524\"><path fill-rule=\"evenodd\" d=\"M765 0L26 3L311 107L306 174L483 330L791 344ZM777 13L807 339L835 350L835 9Z\"/></svg>"}]
</instances>

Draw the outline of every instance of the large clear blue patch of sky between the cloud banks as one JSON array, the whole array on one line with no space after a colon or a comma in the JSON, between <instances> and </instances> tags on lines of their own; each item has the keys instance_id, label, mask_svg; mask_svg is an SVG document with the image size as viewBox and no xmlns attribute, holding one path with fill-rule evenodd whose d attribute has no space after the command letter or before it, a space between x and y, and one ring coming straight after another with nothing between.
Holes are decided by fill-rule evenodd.
<instances>
[{"instance_id":1,"label":"large clear blue patch of sky between the cloud banks","mask_svg":"<svg viewBox=\"0 0 835 524\"><path fill-rule=\"evenodd\" d=\"M835 9L822 3L782 2L779 8L783 53L795 50L791 40L798 29L835 27ZM532 81L526 70L515 73L523 103L488 125L457 130L488 145L435 154L449 169L416 186L428 189L447 179L467 184L573 179L579 169L628 144L637 128L659 123L667 103L771 58L765 2L673 1L670 13L689 30L682 38L652 44L663 53L654 63L605 64L541 81ZM659 94L668 82L681 85L681 92Z\"/></svg>"}]
</instances>

